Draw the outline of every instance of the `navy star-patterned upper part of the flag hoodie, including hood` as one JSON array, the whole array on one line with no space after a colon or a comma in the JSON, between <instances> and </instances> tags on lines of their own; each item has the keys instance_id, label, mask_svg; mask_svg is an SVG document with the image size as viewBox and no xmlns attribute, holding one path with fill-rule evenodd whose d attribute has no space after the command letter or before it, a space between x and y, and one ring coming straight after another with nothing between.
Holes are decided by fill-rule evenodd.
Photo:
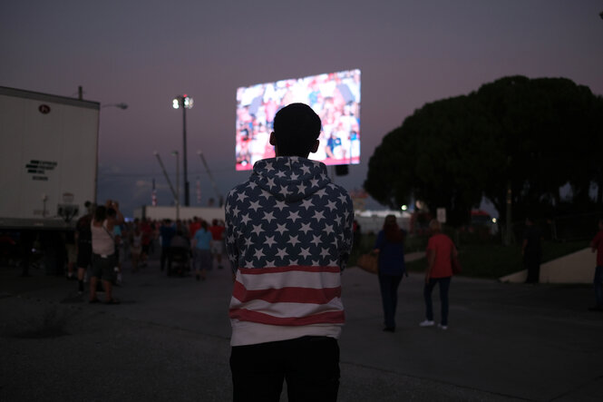
<instances>
[{"instance_id":1,"label":"navy star-patterned upper part of the flag hoodie, including hood","mask_svg":"<svg viewBox=\"0 0 603 402\"><path fill-rule=\"evenodd\" d=\"M349 196L320 162L256 162L226 200L229 260L237 268L345 268L354 214Z\"/></svg>"}]
</instances>

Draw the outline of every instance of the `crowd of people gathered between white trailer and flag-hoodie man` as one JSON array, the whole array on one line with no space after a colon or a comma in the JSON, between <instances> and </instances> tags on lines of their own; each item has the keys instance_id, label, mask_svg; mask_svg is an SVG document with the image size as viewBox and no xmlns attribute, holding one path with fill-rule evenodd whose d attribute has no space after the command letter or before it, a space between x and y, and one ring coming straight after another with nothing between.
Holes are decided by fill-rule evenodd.
<instances>
[{"instance_id":1,"label":"crowd of people gathered between white trailer and flag-hoodie man","mask_svg":"<svg viewBox=\"0 0 603 402\"><path fill-rule=\"evenodd\" d=\"M160 251L160 270L167 276L194 274L197 280L205 280L214 260L223 269L223 221L199 217L125 221L119 203L112 200L98 206L86 202L86 208L87 213L75 225L73 241L66 243L67 278L78 280L80 295L84 283L89 283L90 303L119 304L112 297L112 288L122 285L124 267L132 273L144 270L156 251ZM101 290L104 300L97 298Z\"/></svg>"}]
</instances>

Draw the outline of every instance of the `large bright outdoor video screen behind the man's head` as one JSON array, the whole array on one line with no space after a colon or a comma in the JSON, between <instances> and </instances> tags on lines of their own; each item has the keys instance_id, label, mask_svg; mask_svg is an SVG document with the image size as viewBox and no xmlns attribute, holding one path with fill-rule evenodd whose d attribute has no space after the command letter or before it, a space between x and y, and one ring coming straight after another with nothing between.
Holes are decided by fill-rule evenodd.
<instances>
[{"instance_id":1,"label":"large bright outdoor video screen behind the man's head","mask_svg":"<svg viewBox=\"0 0 603 402\"><path fill-rule=\"evenodd\" d=\"M274 116L289 103L306 103L320 116L318 152L327 165L360 162L360 70L258 83L237 90L237 170L275 156L269 138Z\"/></svg>"}]
</instances>

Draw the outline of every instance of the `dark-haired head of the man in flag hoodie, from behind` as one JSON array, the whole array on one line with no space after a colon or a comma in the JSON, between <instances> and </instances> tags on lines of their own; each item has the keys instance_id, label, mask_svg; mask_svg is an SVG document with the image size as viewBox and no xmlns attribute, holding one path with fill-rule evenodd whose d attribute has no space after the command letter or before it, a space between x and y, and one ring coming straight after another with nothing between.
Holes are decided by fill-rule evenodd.
<instances>
[{"instance_id":1,"label":"dark-haired head of the man in flag hoodie, from behind","mask_svg":"<svg viewBox=\"0 0 603 402\"><path fill-rule=\"evenodd\" d=\"M320 117L305 103L291 103L277 112L274 133L280 156L306 158L320 134Z\"/></svg>"}]
</instances>

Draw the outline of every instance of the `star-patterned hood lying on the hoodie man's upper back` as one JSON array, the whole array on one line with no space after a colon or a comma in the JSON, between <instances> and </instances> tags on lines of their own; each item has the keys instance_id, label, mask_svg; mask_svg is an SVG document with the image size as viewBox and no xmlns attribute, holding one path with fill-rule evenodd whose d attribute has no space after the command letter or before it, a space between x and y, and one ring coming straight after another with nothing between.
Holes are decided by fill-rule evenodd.
<instances>
[{"instance_id":1,"label":"star-patterned hood lying on the hoodie man's upper back","mask_svg":"<svg viewBox=\"0 0 603 402\"><path fill-rule=\"evenodd\" d=\"M331 182L325 163L298 156L278 156L256 162L249 181L277 200L287 202L304 200Z\"/></svg>"}]
</instances>

